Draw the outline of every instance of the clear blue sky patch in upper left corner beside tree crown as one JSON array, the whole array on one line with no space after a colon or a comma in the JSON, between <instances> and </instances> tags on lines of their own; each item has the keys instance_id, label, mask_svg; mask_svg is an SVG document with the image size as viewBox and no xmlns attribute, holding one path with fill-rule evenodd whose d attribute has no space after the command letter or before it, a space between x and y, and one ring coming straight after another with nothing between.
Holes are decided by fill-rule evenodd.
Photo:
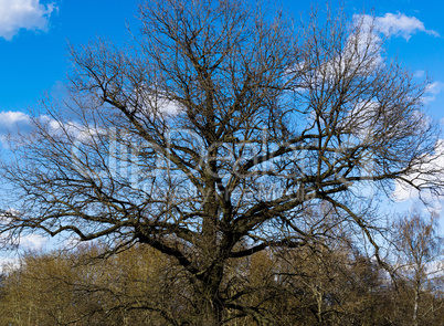
<instances>
[{"instance_id":1,"label":"clear blue sky patch in upper left corner beside tree crown","mask_svg":"<svg viewBox=\"0 0 444 326\"><path fill-rule=\"evenodd\" d=\"M135 1L0 0L0 112L25 111L63 83L68 41L121 40L136 8Z\"/></svg>"}]
</instances>

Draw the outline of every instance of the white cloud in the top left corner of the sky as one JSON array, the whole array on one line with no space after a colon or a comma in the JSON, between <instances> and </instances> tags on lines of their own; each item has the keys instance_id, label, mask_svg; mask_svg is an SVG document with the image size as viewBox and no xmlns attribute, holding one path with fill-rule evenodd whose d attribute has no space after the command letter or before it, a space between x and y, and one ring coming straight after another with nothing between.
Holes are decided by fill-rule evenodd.
<instances>
[{"instance_id":1,"label":"white cloud in the top left corner of the sky","mask_svg":"<svg viewBox=\"0 0 444 326\"><path fill-rule=\"evenodd\" d=\"M12 40L21 29L47 31L54 3L42 4L40 0L0 0L0 38Z\"/></svg>"}]
</instances>

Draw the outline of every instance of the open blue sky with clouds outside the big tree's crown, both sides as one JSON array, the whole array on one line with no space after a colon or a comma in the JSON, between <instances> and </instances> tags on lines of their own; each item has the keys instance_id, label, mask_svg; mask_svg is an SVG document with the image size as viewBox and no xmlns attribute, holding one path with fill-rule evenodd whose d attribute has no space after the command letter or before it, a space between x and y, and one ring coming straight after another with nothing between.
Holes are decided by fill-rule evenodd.
<instances>
[{"instance_id":1,"label":"open blue sky with clouds outside the big tree's crown, both sides","mask_svg":"<svg viewBox=\"0 0 444 326\"><path fill-rule=\"evenodd\" d=\"M310 9L308 1L275 2L295 14ZM0 140L7 129L27 125L27 114L43 92L62 90L70 65L68 42L78 45L96 36L123 42L128 36L127 24L137 30L137 3L0 0ZM325 1L313 3L325 8ZM391 31L389 55L397 55L417 76L429 74L433 78L427 94L429 113L444 122L444 1L346 0L345 3L350 18L363 10L372 12L381 30ZM30 238L30 246L39 246L40 241L43 240Z\"/></svg>"}]
</instances>

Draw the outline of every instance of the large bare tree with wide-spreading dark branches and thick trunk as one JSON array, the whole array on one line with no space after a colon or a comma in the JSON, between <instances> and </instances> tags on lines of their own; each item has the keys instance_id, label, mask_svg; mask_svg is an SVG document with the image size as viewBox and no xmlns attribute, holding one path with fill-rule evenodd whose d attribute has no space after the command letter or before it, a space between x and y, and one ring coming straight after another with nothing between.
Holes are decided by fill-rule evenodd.
<instances>
[{"instance_id":1,"label":"large bare tree with wide-spreading dark branches and thick trunk","mask_svg":"<svg viewBox=\"0 0 444 326\"><path fill-rule=\"evenodd\" d=\"M43 101L2 166L17 192L2 239L102 239L106 254L148 243L188 271L200 325L274 323L225 269L323 236L309 206L328 203L379 257L369 190L441 191L426 83L385 59L363 18L313 13L296 28L265 11L150 1L127 46L72 48L68 98Z\"/></svg>"}]
</instances>

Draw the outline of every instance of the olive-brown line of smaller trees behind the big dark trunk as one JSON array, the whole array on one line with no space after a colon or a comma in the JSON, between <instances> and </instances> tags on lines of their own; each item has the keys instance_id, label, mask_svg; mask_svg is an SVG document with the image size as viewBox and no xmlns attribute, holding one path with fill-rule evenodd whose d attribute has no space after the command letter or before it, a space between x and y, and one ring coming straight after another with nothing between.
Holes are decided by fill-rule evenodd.
<instances>
[{"instance_id":1,"label":"olive-brown line of smaller trees behind the big dark trunk","mask_svg":"<svg viewBox=\"0 0 444 326\"><path fill-rule=\"evenodd\" d=\"M397 228L395 278L335 230L340 236L329 243L230 261L223 286L251 290L240 303L266 311L271 325L443 325L435 220L413 212ZM103 246L29 252L3 267L0 324L200 325L199 292L175 260L145 244L97 259ZM226 314L226 325L265 325L234 308Z\"/></svg>"}]
</instances>

